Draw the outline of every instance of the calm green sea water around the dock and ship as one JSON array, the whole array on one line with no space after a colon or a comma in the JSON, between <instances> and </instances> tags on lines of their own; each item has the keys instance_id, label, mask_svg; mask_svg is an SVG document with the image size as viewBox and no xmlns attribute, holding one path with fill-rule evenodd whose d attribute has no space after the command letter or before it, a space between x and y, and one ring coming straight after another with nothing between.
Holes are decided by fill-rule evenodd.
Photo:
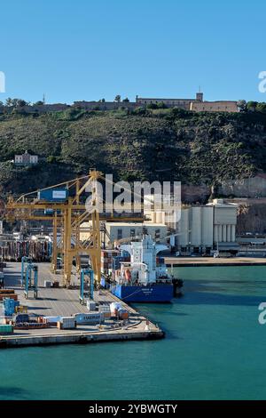
<instances>
[{"instance_id":1,"label":"calm green sea water around the dock and ship","mask_svg":"<svg viewBox=\"0 0 266 418\"><path fill-rule=\"evenodd\" d=\"M164 340L0 350L0 398L266 399L266 267L176 272L183 298L137 305Z\"/></svg>"}]
</instances>

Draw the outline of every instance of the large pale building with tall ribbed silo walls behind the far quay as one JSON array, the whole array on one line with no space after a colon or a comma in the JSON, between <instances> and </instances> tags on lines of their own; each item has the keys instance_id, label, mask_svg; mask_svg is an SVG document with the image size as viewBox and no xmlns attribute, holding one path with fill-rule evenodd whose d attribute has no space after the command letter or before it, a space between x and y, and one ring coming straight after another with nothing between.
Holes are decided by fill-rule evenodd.
<instances>
[{"instance_id":1,"label":"large pale building with tall ribbed silo walls behind the far quay","mask_svg":"<svg viewBox=\"0 0 266 418\"><path fill-rule=\"evenodd\" d=\"M238 205L215 199L207 205L183 205L168 221L168 213L145 211L146 222L162 222L173 233L171 245L183 255L209 254L213 249L236 251L236 225ZM176 220L176 224L173 222Z\"/></svg>"}]
</instances>

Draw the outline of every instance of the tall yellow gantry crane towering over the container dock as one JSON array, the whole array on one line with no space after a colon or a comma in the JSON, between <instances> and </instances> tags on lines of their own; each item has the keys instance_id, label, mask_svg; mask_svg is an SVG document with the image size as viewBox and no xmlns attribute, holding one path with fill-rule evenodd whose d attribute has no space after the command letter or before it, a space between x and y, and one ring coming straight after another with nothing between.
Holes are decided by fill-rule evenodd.
<instances>
[{"instance_id":1,"label":"tall yellow gantry crane towering over the container dock","mask_svg":"<svg viewBox=\"0 0 266 418\"><path fill-rule=\"evenodd\" d=\"M101 242L100 242L100 213L98 211L98 180L106 181L103 173L90 169L88 175L71 181L65 181L43 190L68 190L68 197L62 201L52 201L38 198L35 190L20 196L17 200L9 197L5 207L6 221L52 221L53 245L51 269L55 272L59 253L63 256L63 285L71 285L73 261L77 271L81 269L82 255L90 257L91 267L99 284L101 277ZM90 207L84 203L84 192L90 186ZM140 205L142 207L142 205ZM108 211L108 205L106 205ZM125 206L125 211L127 207ZM112 208L110 207L110 213ZM46 214L45 214L46 213ZM102 217L102 220L108 218ZM143 221L141 217L114 218L115 221ZM80 239L80 228L84 221L90 222L89 237L85 242Z\"/></svg>"}]
</instances>

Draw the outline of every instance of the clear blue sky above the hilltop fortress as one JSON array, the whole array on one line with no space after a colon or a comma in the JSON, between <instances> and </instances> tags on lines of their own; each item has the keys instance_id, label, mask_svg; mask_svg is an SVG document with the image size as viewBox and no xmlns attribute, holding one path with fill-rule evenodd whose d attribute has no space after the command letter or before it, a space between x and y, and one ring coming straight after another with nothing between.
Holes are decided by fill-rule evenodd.
<instances>
[{"instance_id":1,"label":"clear blue sky above the hilltop fortress","mask_svg":"<svg viewBox=\"0 0 266 418\"><path fill-rule=\"evenodd\" d=\"M265 0L5 0L6 92L48 102L116 94L261 100Z\"/></svg>"}]
</instances>

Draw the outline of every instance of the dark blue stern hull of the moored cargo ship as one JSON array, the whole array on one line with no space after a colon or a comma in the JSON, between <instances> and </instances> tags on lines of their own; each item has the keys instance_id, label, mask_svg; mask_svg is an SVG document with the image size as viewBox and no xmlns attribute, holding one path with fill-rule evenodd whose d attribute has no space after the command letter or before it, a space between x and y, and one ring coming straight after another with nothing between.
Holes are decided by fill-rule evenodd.
<instances>
[{"instance_id":1,"label":"dark blue stern hull of the moored cargo ship","mask_svg":"<svg viewBox=\"0 0 266 418\"><path fill-rule=\"evenodd\" d=\"M174 297L174 286L167 285L113 285L111 292L126 302L169 302Z\"/></svg>"}]
</instances>

